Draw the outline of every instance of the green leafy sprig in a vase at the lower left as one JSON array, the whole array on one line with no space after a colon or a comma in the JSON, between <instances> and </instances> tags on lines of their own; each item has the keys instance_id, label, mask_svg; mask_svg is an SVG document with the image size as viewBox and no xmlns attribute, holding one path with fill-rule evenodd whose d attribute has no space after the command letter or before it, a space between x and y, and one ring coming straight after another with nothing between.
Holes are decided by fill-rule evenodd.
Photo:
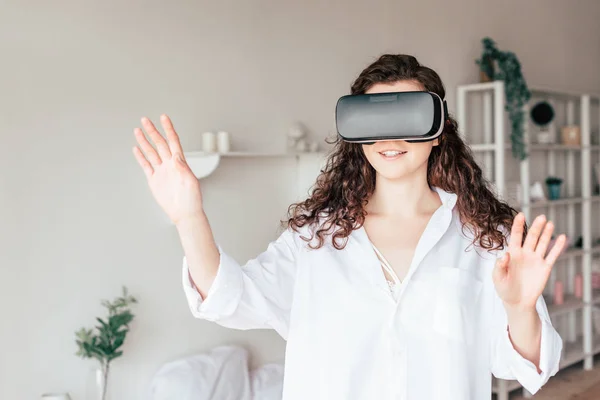
<instances>
[{"instance_id":1,"label":"green leafy sprig in a vase at the lower left","mask_svg":"<svg viewBox=\"0 0 600 400\"><path fill-rule=\"evenodd\" d=\"M129 324L133 321L130 306L137 303L135 297L130 296L127 288L123 287L123 295L114 301L102 301L108 316L106 319L96 318L99 325L94 328L81 328L75 333L77 355L81 358L95 358L100 365L96 371L97 400L106 400L108 388L108 373L110 363L123 355L119 350L125 342Z\"/></svg>"}]
</instances>

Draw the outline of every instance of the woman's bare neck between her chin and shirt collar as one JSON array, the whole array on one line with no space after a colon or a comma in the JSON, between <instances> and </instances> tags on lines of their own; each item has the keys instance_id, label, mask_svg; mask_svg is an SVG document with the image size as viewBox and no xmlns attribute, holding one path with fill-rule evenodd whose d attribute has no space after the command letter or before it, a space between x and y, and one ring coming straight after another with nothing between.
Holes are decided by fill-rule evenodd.
<instances>
[{"instance_id":1,"label":"woman's bare neck between her chin and shirt collar","mask_svg":"<svg viewBox=\"0 0 600 400\"><path fill-rule=\"evenodd\" d=\"M427 178L391 180L377 174L375 192L369 199L367 213L389 217L431 215L442 204L439 195L429 188Z\"/></svg>"}]
</instances>

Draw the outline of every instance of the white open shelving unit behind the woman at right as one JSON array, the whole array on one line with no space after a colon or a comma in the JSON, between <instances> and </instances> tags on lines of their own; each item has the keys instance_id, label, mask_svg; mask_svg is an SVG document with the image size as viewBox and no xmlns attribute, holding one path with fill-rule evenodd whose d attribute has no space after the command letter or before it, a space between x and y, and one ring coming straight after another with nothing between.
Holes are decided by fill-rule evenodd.
<instances>
[{"instance_id":1,"label":"white open shelving unit behind the woman at right","mask_svg":"<svg viewBox=\"0 0 600 400\"><path fill-rule=\"evenodd\" d=\"M558 232L566 233L573 240L583 237L583 247L571 247L561 255L544 294L547 296L553 324L564 342L560 367L583 361L584 368L591 369L594 354L600 352L600 333L595 332L592 324L594 304L600 304L600 290L592 290L591 270L592 259L600 256L600 246L593 244L594 235L600 235L600 196L593 193L592 182L592 167L600 162L600 111L598 121L592 120L592 112L599 110L600 96L540 88L534 88L531 92L530 105L546 100L556 111L564 111L560 116L559 112L556 113L557 127L573 124L580 126L580 146L530 143L532 125L529 123L530 105L527 105L524 107L524 128L529 157L522 162L515 160L508 143L509 124L504 112L504 83L501 81L459 86L457 120L463 137L470 143L486 176L496 186L497 193L507 198L509 181L506 177L511 176L511 172L515 181L520 183L521 204L513 206L524 212L528 223L544 213L556 222ZM576 118L576 110L579 111L579 118ZM471 127L473 119L479 122L476 128ZM594 122L597 124L597 143L592 142ZM555 140L559 142L560 129L556 131ZM518 168L512 168L511 171L509 167L513 166ZM551 175L563 178L564 198L531 202L529 188L532 175L537 175L535 180L538 181ZM577 273L583 278L582 298L573 295ZM565 299L561 305L552 304L552 288L556 279L565 282ZM493 381L493 392L497 394L498 400L507 400L509 392L520 387L516 381Z\"/></svg>"}]
</instances>

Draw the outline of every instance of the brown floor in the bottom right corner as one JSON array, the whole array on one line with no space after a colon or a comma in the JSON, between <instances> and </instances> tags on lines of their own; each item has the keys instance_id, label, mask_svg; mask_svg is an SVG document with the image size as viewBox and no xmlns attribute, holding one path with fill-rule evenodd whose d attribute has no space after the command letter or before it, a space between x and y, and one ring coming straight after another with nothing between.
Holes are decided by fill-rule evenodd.
<instances>
[{"instance_id":1,"label":"brown floor in the bottom right corner","mask_svg":"<svg viewBox=\"0 0 600 400\"><path fill-rule=\"evenodd\" d=\"M520 390L510 400L524 400ZM561 370L531 399L534 400L600 400L600 358L594 369L584 371L581 363Z\"/></svg>"}]
</instances>

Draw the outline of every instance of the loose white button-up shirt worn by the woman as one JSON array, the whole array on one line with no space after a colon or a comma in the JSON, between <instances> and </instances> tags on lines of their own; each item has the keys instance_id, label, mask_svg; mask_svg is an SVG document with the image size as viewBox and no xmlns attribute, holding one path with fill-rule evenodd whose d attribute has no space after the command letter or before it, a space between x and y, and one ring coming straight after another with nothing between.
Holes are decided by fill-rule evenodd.
<instances>
[{"instance_id":1,"label":"loose white button-up shirt worn by the woman","mask_svg":"<svg viewBox=\"0 0 600 400\"><path fill-rule=\"evenodd\" d=\"M421 236L396 298L364 228L346 247L312 250L286 230L240 266L223 252L202 300L184 259L183 285L194 316L236 329L272 328L287 340L284 400L482 400L491 374L537 392L558 370L562 341L542 297L541 359L513 348L492 282L502 252L471 246L456 195ZM307 232L304 232L306 235Z\"/></svg>"}]
</instances>

